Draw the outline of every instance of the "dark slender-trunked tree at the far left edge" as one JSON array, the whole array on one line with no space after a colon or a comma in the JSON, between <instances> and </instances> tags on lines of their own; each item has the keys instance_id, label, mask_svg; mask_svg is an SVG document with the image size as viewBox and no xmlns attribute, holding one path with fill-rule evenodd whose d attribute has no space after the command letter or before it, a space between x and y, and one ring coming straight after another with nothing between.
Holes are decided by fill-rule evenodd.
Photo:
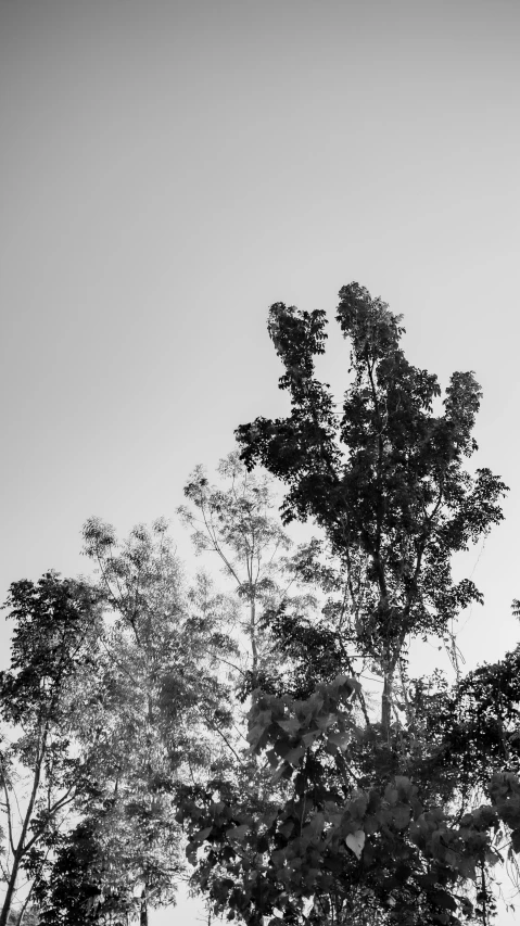
<instances>
[{"instance_id":1,"label":"dark slender-trunked tree at the far left edge","mask_svg":"<svg viewBox=\"0 0 520 926\"><path fill-rule=\"evenodd\" d=\"M15 621L11 668L0 673L3 722L0 751L7 852L7 884L0 924L13 913L21 872L39 847L55 839L86 773L71 750L80 701L96 680L100 631L99 600L73 580L46 573L36 584L10 586L4 605ZM30 889L18 921L29 902Z\"/></svg>"}]
</instances>

